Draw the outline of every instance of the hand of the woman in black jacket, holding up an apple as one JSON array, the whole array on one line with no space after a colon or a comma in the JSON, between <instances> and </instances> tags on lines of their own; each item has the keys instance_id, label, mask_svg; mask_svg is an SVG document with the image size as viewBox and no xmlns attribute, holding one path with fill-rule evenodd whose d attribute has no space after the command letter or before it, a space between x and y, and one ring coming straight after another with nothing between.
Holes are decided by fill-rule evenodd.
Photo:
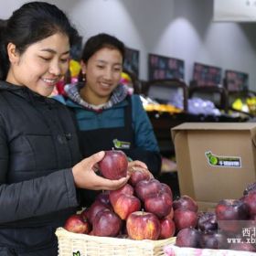
<instances>
[{"instance_id":1,"label":"hand of the woman in black jacket, holding up an apple","mask_svg":"<svg viewBox=\"0 0 256 256\"><path fill-rule=\"evenodd\" d=\"M127 183L130 177L129 174L118 180L110 180L95 174L97 165L104 155L104 151L91 155L72 168L76 187L91 190L115 190L123 187Z\"/></svg>"}]
</instances>

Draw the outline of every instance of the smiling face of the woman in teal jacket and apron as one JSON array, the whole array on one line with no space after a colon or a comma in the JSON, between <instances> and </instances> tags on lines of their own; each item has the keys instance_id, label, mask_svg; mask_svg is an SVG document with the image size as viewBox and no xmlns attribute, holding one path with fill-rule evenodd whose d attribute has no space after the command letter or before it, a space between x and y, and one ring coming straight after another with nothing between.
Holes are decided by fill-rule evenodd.
<instances>
[{"instance_id":1,"label":"smiling face of the woman in teal jacket and apron","mask_svg":"<svg viewBox=\"0 0 256 256\"><path fill-rule=\"evenodd\" d=\"M81 66L86 74L86 86L80 91L82 98L95 105L107 102L121 79L121 52L116 48L101 48Z\"/></svg>"}]
</instances>

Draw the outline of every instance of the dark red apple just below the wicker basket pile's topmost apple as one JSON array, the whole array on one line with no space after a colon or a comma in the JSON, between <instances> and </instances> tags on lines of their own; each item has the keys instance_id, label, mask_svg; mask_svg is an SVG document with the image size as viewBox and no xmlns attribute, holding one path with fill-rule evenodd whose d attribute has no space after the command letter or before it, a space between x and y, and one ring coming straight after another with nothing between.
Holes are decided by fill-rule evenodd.
<instances>
[{"instance_id":1,"label":"dark red apple just below the wicker basket pile's topmost apple","mask_svg":"<svg viewBox=\"0 0 256 256\"><path fill-rule=\"evenodd\" d=\"M161 189L161 183L155 178L150 180L141 180L135 186L135 194L142 201L145 197L156 194Z\"/></svg>"}]
</instances>

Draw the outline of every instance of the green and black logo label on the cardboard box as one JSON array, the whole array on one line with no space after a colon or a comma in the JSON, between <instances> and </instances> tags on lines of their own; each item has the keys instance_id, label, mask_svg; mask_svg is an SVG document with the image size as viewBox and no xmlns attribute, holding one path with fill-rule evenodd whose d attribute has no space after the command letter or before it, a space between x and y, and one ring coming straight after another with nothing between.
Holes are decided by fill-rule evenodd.
<instances>
[{"instance_id":1,"label":"green and black logo label on the cardboard box","mask_svg":"<svg viewBox=\"0 0 256 256\"><path fill-rule=\"evenodd\" d=\"M208 165L218 166L218 167L232 167L232 168L241 167L240 156L213 155L210 151L207 151L205 155L208 159Z\"/></svg>"}]
</instances>

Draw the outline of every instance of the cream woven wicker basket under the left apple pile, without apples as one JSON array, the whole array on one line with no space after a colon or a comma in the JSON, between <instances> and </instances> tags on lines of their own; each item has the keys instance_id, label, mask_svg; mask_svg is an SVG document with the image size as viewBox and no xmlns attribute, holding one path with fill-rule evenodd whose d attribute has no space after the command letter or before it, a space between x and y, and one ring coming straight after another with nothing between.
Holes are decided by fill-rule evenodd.
<instances>
[{"instance_id":1,"label":"cream woven wicker basket under the left apple pile, without apples","mask_svg":"<svg viewBox=\"0 0 256 256\"><path fill-rule=\"evenodd\" d=\"M63 228L56 230L59 256L164 256L164 247L176 238L166 240L129 240L76 234Z\"/></svg>"}]
</instances>

